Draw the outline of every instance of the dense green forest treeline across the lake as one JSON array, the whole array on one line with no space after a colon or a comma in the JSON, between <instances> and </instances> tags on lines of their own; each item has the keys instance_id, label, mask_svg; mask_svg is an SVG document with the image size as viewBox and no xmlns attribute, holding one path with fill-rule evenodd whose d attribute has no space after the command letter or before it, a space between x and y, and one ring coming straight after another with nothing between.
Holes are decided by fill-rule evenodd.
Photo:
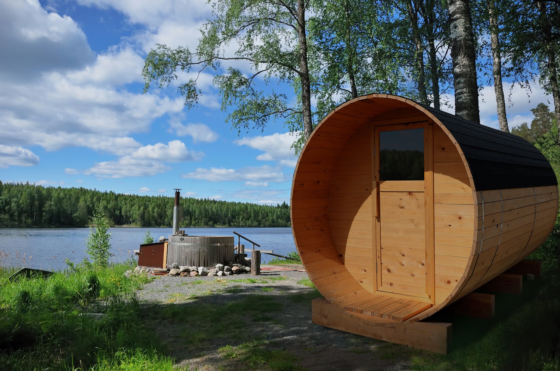
<instances>
[{"instance_id":1,"label":"dense green forest treeline across the lake","mask_svg":"<svg viewBox=\"0 0 560 371\"><path fill-rule=\"evenodd\" d=\"M85 227L95 205L116 226L171 227L174 198L0 181L1 227ZM290 227L290 206L181 198L181 227Z\"/></svg>"}]
</instances>

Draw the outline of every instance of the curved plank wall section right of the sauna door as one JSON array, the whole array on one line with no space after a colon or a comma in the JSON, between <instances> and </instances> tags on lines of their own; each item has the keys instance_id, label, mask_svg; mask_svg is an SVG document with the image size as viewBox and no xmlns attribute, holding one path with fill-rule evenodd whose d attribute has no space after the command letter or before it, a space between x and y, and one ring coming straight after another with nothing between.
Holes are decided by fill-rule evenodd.
<instances>
[{"instance_id":1,"label":"curved plank wall section right of the sauna door","mask_svg":"<svg viewBox=\"0 0 560 371\"><path fill-rule=\"evenodd\" d=\"M469 177L447 134L433 125L436 306L465 274L473 250L474 208Z\"/></svg>"}]
</instances>

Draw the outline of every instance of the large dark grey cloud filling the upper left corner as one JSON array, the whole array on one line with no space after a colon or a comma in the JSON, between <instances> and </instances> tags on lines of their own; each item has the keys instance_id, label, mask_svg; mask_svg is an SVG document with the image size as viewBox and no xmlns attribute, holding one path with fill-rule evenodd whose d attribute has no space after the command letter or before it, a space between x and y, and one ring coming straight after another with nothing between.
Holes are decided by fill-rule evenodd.
<instances>
[{"instance_id":1,"label":"large dark grey cloud filling the upper left corner","mask_svg":"<svg viewBox=\"0 0 560 371\"><path fill-rule=\"evenodd\" d=\"M13 81L81 68L95 59L76 22L47 12L38 0L1 1L0 35L0 75Z\"/></svg>"}]
</instances>

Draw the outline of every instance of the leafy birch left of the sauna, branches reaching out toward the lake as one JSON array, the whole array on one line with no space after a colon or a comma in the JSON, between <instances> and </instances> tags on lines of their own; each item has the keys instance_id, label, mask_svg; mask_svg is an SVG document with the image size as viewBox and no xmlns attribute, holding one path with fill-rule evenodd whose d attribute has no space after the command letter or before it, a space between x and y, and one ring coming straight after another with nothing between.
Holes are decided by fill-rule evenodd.
<instances>
[{"instance_id":1,"label":"leafy birch left of the sauna, branches reaching out toward the lake","mask_svg":"<svg viewBox=\"0 0 560 371\"><path fill-rule=\"evenodd\" d=\"M216 0L212 8L213 18L202 27L195 50L163 44L150 50L142 71L144 92L152 84L168 86L179 71L194 72L178 87L190 108L202 95L200 73L220 71L213 83L221 93L222 110L231 109L227 121L234 128L263 129L271 120L283 120L292 132L300 130L299 143L304 143L313 130L304 0ZM228 53L231 46L235 51ZM222 64L232 60L247 63L251 72L231 65L223 71ZM292 85L296 104L285 93L259 89L259 77L267 85Z\"/></svg>"}]
</instances>

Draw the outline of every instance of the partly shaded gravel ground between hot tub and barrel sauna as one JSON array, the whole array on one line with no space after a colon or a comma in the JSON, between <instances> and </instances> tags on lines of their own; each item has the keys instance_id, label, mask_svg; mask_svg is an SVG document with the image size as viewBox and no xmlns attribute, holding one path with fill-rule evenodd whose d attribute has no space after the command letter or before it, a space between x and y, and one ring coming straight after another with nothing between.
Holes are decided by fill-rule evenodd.
<instances>
[{"instance_id":1,"label":"partly shaded gravel ground between hot tub and barrel sauna","mask_svg":"<svg viewBox=\"0 0 560 371\"><path fill-rule=\"evenodd\" d=\"M404 370L410 367L410 358L418 350L390 344L368 337L333 330L311 322L313 297L320 295L316 290L298 283L306 279L305 272L263 272L260 276L240 274L223 277L169 277L160 276L138 291L138 298L147 308L165 310L184 309L188 313L193 306L223 306L235 300L250 298L249 295L267 295L281 303L280 311L269 313L272 318L254 321L249 312L242 323L242 336L223 336L200 343L189 341L184 328L179 328L172 319L146 318L149 327L166 342L171 356L180 366L189 365L189 370L241 370L268 369L267 365L251 368L240 359L224 354L223 347L236 349L247 341L265 339L265 349L282 350L295 356L295 369L307 370ZM256 279L256 283L233 280ZM173 307L179 306L179 307ZM204 307L206 308L206 307ZM249 309L249 308L248 308ZM153 313L153 309L150 309ZM200 322L204 322L200 318ZM193 324L194 323L194 324ZM218 324L219 325L219 324ZM197 322L190 322L186 331L195 333ZM239 330L235 330L239 331ZM239 335L239 334L237 334ZM186 339L186 340L185 340Z\"/></svg>"}]
</instances>

